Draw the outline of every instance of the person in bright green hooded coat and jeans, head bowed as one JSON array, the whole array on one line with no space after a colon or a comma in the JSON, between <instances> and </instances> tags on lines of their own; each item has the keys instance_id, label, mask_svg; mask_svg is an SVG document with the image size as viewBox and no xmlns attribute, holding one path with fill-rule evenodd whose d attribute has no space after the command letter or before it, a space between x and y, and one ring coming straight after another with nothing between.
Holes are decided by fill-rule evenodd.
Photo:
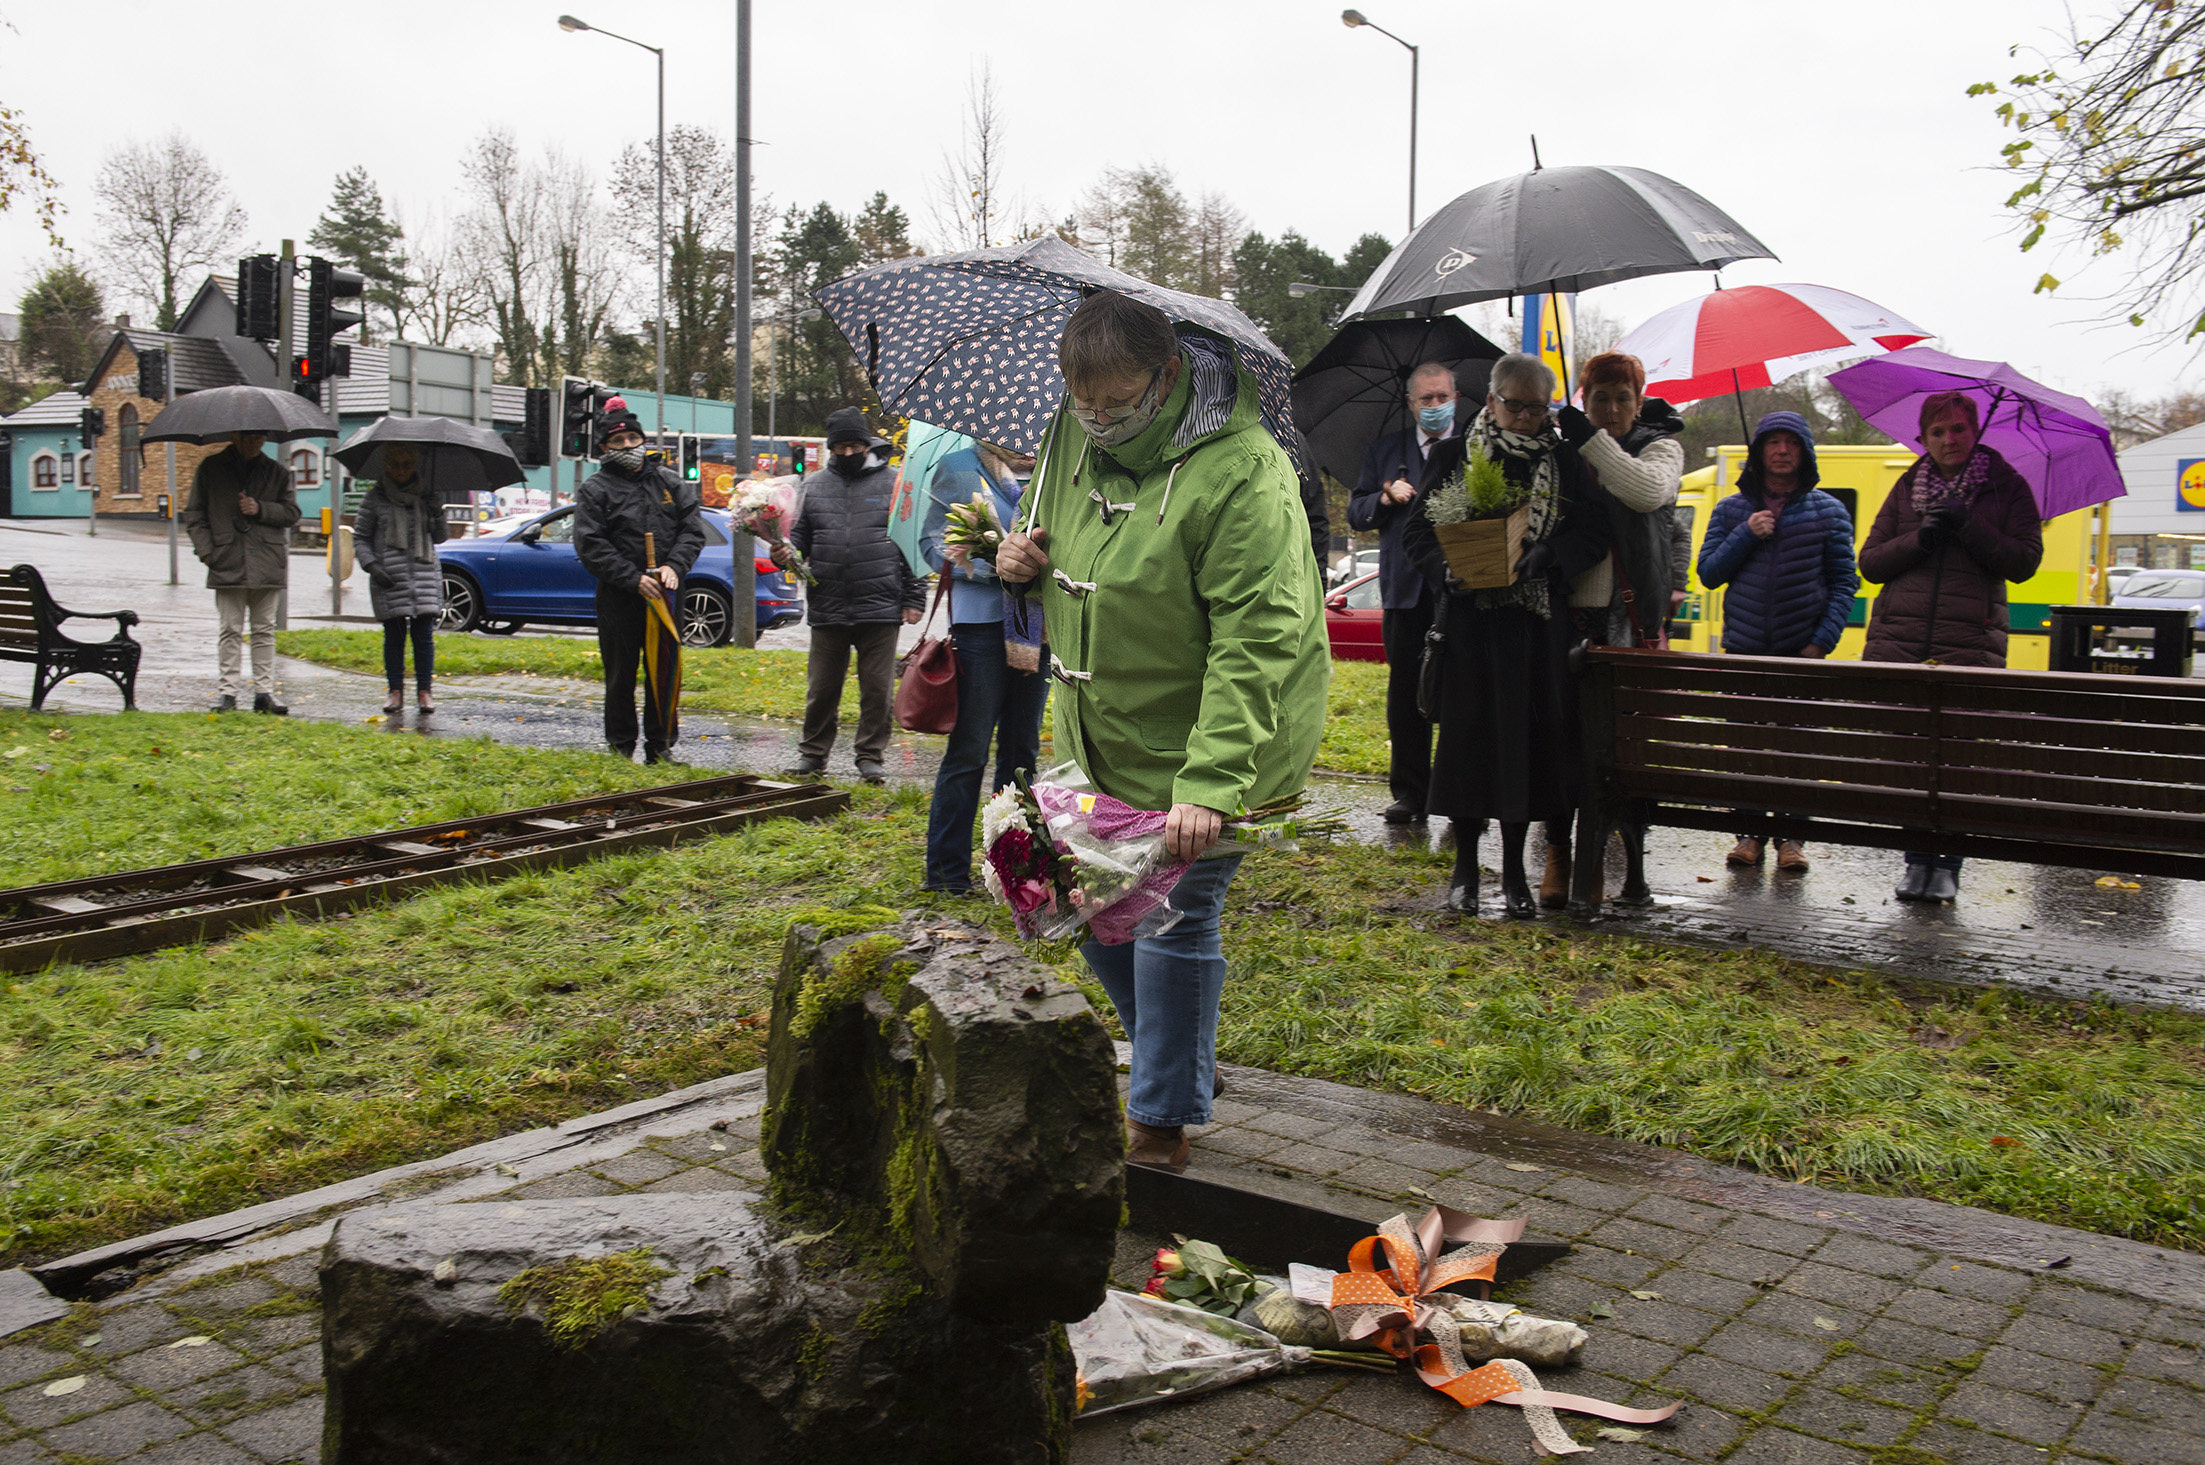
<instances>
[{"instance_id":1,"label":"person in bright green hooded coat and jeans, head bowed","mask_svg":"<svg viewBox=\"0 0 2205 1465\"><path fill-rule=\"evenodd\" d=\"M1061 757L1140 810L1195 867L1180 924L1080 951L1133 1041L1127 1158L1186 1165L1208 1123L1239 854L1224 821L1301 792L1332 657L1294 468L1230 342L1114 291L1058 346L1067 402L997 558L1047 618Z\"/></svg>"}]
</instances>

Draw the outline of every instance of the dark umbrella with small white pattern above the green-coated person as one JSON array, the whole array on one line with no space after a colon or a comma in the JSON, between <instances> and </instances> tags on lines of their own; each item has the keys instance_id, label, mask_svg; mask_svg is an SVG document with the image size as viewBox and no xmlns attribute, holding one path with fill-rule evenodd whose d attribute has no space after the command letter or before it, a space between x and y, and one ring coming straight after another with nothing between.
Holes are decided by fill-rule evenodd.
<instances>
[{"instance_id":1,"label":"dark umbrella with small white pattern above the green-coated person","mask_svg":"<svg viewBox=\"0 0 2205 1465\"><path fill-rule=\"evenodd\" d=\"M886 260L816 296L882 406L1032 452L1065 397L1056 368L1065 320L1098 289L1144 300L1226 340L1257 382L1263 426L1305 468L1288 399L1294 366L1252 320L1224 300L1111 269L1061 238Z\"/></svg>"}]
</instances>

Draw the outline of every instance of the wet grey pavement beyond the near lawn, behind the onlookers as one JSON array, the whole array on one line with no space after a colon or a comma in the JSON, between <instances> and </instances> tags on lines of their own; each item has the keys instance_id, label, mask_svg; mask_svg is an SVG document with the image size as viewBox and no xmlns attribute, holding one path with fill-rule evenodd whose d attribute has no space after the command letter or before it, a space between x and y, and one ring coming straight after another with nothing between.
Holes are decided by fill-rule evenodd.
<instances>
[{"instance_id":1,"label":"wet grey pavement beyond the near lawn, behind the onlookers","mask_svg":"<svg viewBox=\"0 0 2205 1465\"><path fill-rule=\"evenodd\" d=\"M150 525L106 525L86 538L82 523L0 521L0 565L29 560L46 574L55 596L71 607L135 607L146 662L139 706L196 710L214 695L214 598L201 587L190 547L181 554L183 585L168 585L165 538ZM329 580L313 556L293 556L293 627L333 624ZM346 589L346 609L366 613L364 587ZM320 613L320 618L311 618ZM357 627L373 622L357 620ZM534 635L538 631L525 631ZM913 640L915 629L904 631ZM763 646L805 646L805 629L761 638ZM20 673L20 675L7 675ZM29 669L0 669L0 702L26 699ZM278 662L278 693L293 717L375 724L390 732L430 737L494 737L545 748L591 748L602 739L598 686L542 677L472 677L439 682L439 713L421 726L408 713L379 719L379 677L342 673L304 662ZM97 677L64 684L51 706L73 713L115 710L117 695ZM684 713L684 761L730 772L774 772L796 755L796 728L785 721ZM845 726L831 779L853 779ZM931 785L942 739L897 732L889 748L891 783ZM1380 819L1385 783L1321 774L1312 799L1338 805L1352 838L1453 849L1446 821L1389 827ZM1731 869L1722 856L1731 838L1689 830L1654 830L1647 841L1652 911L1612 911L1601 929L1643 931L1663 940L1709 947L1755 944L1808 962L1868 966L1962 984L2011 984L2057 997L2168 1004L2205 1010L2205 885L2141 878L2141 889L2099 887L2119 869L2059 869L1976 860L1962 874L1962 896L1951 907L1892 900L1901 856L1841 845L1810 847L1804 876L1779 874L1773 860ZM1499 865L1499 836L1488 834L1480 858ZM1532 871L1544 860L1532 830ZM1621 849L1610 849L1610 889L1623 880ZM1499 911L1497 880L1484 883L1484 911ZM1427 896L1433 907L1438 891Z\"/></svg>"}]
</instances>

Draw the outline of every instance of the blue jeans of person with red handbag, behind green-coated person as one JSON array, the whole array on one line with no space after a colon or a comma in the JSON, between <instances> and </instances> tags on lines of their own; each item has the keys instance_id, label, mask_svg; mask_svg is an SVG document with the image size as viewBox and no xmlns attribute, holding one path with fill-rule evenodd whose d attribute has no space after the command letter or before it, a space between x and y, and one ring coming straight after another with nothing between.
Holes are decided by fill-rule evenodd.
<instances>
[{"instance_id":1,"label":"blue jeans of person with red handbag, behind green-coated person","mask_svg":"<svg viewBox=\"0 0 2205 1465\"><path fill-rule=\"evenodd\" d=\"M935 772L935 801L926 812L928 889L972 889L972 816L979 814L979 777L994 741L994 783L1010 783L1014 768L1036 772L1041 708L1050 677L1012 671L1003 662L1003 622L950 627L957 640L957 726Z\"/></svg>"}]
</instances>

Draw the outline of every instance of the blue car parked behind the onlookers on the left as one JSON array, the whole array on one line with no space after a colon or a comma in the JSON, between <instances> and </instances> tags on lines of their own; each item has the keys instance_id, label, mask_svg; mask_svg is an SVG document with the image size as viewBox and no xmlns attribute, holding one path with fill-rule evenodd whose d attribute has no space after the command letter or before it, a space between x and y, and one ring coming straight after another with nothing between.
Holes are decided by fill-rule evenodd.
<instances>
[{"instance_id":1,"label":"blue car parked behind the onlookers on the left","mask_svg":"<svg viewBox=\"0 0 2205 1465\"><path fill-rule=\"evenodd\" d=\"M734 633L734 541L725 510L703 510L703 554L681 580L675 624L688 646L723 646ZM573 552L573 505L536 514L505 532L437 545L443 567L439 631L512 635L525 624L598 624L598 580ZM789 576L767 558L759 569L756 624L761 631L796 624L805 616Z\"/></svg>"}]
</instances>

